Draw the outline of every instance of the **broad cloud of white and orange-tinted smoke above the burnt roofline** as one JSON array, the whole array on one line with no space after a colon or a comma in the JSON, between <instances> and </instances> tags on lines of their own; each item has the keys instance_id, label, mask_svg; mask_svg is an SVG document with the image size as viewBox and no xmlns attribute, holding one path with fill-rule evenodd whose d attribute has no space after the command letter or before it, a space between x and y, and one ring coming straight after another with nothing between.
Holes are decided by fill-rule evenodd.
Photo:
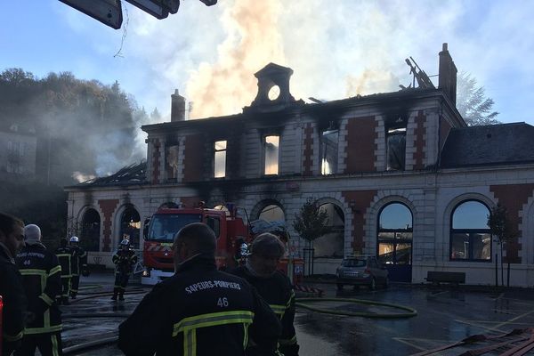
<instances>
[{"instance_id":1,"label":"broad cloud of white and orange-tinted smoke above the burnt roofline","mask_svg":"<svg viewBox=\"0 0 534 356\"><path fill-rule=\"evenodd\" d=\"M182 86L194 102L191 117L239 113L255 98L254 73L269 62L294 69L296 99L398 90L409 85L410 55L428 74L437 71L441 44L456 38L461 13L458 2L227 0L207 10L191 4L161 21L130 12L135 39L127 41L142 52L130 51L150 54L150 96L159 95L166 115L170 94ZM461 50L449 48L453 56Z\"/></svg>"}]
</instances>

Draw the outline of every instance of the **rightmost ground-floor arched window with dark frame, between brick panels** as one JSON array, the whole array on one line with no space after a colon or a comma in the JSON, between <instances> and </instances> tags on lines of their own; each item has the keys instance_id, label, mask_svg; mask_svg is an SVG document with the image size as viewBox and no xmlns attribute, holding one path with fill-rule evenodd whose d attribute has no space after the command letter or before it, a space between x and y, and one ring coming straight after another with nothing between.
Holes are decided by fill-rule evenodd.
<instances>
[{"instance_id":1,"label":"rightmost ground-floor arched window with dark frame, between brick panels","mask_svg":"<svg viewBox=\"0 0 534 356\"><path fill-rule=\"evenodd\" d=\"M450 219L450 259L491 261L490 209L480 201L460 203Z\"/></svg>"}]
</instances>

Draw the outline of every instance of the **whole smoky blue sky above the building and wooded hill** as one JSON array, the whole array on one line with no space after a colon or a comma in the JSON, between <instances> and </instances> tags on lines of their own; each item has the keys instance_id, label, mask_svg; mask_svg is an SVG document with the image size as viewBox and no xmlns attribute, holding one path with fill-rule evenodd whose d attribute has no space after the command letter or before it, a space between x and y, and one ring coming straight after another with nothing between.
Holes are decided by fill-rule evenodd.
<instances>
[{"instance_id":1,"label":"whole smoky blue sky above the building and wooded hill","mask_svg":"<svg viewBox=\"0 0 534 356\"><path fill-rule=\"evenodd\" d=\"M182 0L157 20L123 1L116 30L58 0L4 1L0 70L117 80L169 120L174 89L192 101L190 118L241 112L269 62L294 70L295 99L397 91L411 83L406 58L433 76L448 43L500 121L534 125L532 13L529 0Z\"/></svg>"}]
</instances>

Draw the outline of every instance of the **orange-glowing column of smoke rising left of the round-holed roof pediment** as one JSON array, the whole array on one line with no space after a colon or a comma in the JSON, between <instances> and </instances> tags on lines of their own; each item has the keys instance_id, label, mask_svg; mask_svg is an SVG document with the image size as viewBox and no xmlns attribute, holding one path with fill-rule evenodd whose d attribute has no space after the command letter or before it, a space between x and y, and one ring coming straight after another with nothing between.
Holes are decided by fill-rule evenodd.
<instances>
[{"instance_id":1,"label":"orange-glowing column of smoke rising left of the round-holed roof pediment","mask_svg":"<svg viewBox=\"0 0 534 356\"><path fill-rule=\"evenodd\" d=\"M214 64L203 62L190 76L187 96L194 102L191 118L240 112L257 92L252 75L269 62L286 62L279 30L281 0L223 2L226 39Z\"/></svg>"}]
</instances>

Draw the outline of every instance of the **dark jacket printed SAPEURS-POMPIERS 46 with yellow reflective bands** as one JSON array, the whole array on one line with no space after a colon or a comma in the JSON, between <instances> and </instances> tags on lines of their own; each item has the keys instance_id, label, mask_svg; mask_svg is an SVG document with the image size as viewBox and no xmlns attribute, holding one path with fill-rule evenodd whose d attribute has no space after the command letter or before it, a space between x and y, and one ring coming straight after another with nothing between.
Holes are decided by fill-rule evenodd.
<instances>
[{"instance_id":1,"label":"dark jacket printed SAPEURS-POMPIERS 46 with yellow reflective bands","mask_svg":"<svg viewBox=\"0 0 534 356\"><path fill-rule=\"evenodd\" d=\"M280 324L245 279L195 255L145 295L118 328L126 355L275 355ZM255 353L246 353L249 336Z\"/></svg>"}]
</instances>

